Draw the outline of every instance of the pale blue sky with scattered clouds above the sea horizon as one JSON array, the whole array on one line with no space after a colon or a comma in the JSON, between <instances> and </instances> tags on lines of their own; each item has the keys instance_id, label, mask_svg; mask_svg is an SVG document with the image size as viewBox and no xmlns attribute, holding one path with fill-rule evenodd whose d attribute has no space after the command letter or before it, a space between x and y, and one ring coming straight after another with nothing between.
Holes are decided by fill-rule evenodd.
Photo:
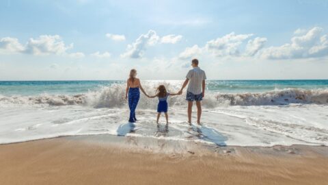
<instances>
[{"instance_id":1,"label":"pale blue sky with scattered clouds above the sea horizon","mask_svg":"<svg viewBox=\"0 0 328 185\"><path fill-rule=\"evenodd\" d=\"M1 1L0 80L327 79L328 1Z\"/></svg>"}]
</instances>

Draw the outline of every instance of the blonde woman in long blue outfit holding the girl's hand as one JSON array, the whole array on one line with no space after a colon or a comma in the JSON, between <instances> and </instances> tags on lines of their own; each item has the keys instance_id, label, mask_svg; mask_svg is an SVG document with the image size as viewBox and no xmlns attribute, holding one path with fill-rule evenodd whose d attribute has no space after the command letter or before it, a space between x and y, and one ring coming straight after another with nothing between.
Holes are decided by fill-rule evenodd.
<instances>
[{"instance_id":1,"label":"blonde woman in long blue outfit holding the girl's hand","mask_svg":"<svg viewBox=\"0 0 328 185\"><path fill-rule=\"evenodd\" d=\"M128 99L128 108L130 108L130 118L128 119L128 122L135 123L137 119L135 118L135 108L137 108L138 101L140 98L140 90L143 94L145 94L147 97L145 90L143 90L140 79L136 78L137 76L137 70L131 69L130 71L130 77L127 80L126 83L126 92L125 92L125 99Z\"/></svg>"}]
</instances>

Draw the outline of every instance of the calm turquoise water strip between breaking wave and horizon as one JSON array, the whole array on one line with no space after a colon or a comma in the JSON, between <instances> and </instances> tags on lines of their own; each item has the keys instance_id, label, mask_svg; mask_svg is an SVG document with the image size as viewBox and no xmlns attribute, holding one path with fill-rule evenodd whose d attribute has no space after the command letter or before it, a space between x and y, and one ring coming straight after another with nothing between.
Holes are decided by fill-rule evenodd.
<instances>
[{"instance_id":1,"label":"calm turquoise water strip between breaking wave and horizon","mask_svg":"<svg viewBox=\"0 0 328 185\"><path fill-rule=\"evenodd\" d=\"M152 81L146 81L152 82ZM156 81L159 82L159 81ZM180 86L182 81L163 81ZM124 84L123 80L101 81L0 81L0 95L74 95L97 90L112 84ZM220 93L256 93L284 88L325 89L327 79L317 80L208 80L207 90Z\"/></svg>"}]
</instances>

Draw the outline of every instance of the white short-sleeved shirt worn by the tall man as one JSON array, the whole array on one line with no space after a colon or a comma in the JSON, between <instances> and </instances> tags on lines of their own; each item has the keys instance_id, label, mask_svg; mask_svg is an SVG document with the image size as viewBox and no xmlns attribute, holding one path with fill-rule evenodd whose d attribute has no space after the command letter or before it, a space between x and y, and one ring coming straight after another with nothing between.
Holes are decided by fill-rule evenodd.
<instances>
[{"instance_id":1,"label":"white short-sleeved shirt worn by the tall man","mask_svg":"<svg viewBox=\"0 0 328 185\"><path fill-rule=\"evenodd\" d=\"M202 82L206 79L205 72L199 67L194 67L186 77L189 79L187 90L194 95L200 95L202 93Z\"/></svg>"}]
</instances>

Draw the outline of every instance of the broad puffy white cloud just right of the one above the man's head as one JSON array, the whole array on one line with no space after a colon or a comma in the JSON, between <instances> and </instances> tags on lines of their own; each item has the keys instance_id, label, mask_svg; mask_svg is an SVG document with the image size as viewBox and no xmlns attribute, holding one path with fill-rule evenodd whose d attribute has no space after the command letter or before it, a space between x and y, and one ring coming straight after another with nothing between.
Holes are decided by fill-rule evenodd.
<instances>
[{"instance_id":1,"label":"broad puffy white cloud just right of the one above the man's head","mask_svg":"<svg viewBox=\"0 0 328 185\"><path fill-rule=\"evenodd\" d=\"M210 40L206 43L206 49L215 54L215 56L239 56L239 47L244 40L247 40L253 34L227 34L221 38Z\"/></svg>"}]
</instances>

